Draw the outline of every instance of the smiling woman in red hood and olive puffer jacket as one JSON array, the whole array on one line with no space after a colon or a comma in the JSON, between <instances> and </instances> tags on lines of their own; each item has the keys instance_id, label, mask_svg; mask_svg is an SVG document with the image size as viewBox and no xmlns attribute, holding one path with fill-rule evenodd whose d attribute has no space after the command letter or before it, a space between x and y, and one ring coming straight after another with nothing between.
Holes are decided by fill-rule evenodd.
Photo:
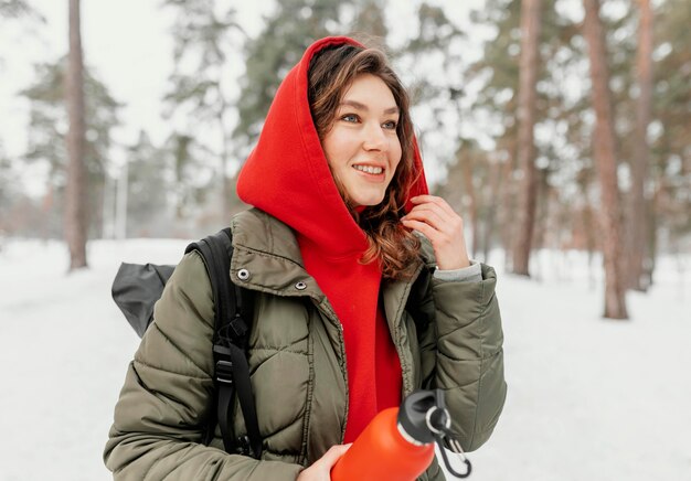
<instances>
[{"instance_id":1,"label":"smiling woman in red hood and olive puffer jacket","mask_svg":"<svg viewBox=\"0 0 691 481\"><path fill-rule=\"evenodd\" d=\"M328 480L374 415L421 387L445 389L466 450L482 445L506 395L495 271L470 265L460 217L427 194L383 54L348 38L312 44L276 93L237 193L254 206L231 225L231 278L255 291L262 459L224 452L217 429L200 443L213 302L191 253L129 366L105 452L115 478ZM245 432L241 416L234 429ZM435 462L422 479L444 477Z\"/></svg>"}]
</instances>

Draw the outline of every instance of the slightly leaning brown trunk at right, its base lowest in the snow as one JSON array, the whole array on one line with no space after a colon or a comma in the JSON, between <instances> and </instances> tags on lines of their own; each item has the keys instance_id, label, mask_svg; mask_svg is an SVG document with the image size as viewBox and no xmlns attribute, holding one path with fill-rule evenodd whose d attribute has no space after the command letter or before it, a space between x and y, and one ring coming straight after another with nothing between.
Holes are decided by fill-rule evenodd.
<instances>
[{"instance_id":1,"label":"slightly leaning brown trunk at right, its base lowest in the snow","mask_svg":"<svg viewBox=\"0 0 691 481\"><path fill-rule=\"evenodd\" d=\"M605 264L605 318L628 319L625 301L624 279L620 269L621 221L617 183L616 133L609 70L605 52L605 33L599 20L599 1L584 0L585 38L588 43L595 131L593 153L600 183L600 228Z\"/></svg>"}]
</instances>

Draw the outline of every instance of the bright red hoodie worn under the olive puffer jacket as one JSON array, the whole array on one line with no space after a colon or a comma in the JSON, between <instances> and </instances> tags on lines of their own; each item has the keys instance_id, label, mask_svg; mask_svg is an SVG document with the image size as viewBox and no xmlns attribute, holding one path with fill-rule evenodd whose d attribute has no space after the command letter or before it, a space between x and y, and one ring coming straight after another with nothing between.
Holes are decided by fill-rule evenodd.
<instances>
[{"instance_id":1,"label":"bright red hoodie worn under the olive puffer jacket","mask_svg":"<svg viewBox=\"0 0 691 481\"><path fill-rule=\"evenodd\" d=\"M343 327L349 411L344 442L380 410L401 402L401 364L380 303L381 270L359 259L366 237L338 192L312 122L307 96L309 62L344 36L315 42L280 84L256 147L237 179L237 195L289 225L306 270L317 280ZM421 172L410 196L427 193ZM410 204L408 204L410 209Z\"/></svg>"}]
</instances>

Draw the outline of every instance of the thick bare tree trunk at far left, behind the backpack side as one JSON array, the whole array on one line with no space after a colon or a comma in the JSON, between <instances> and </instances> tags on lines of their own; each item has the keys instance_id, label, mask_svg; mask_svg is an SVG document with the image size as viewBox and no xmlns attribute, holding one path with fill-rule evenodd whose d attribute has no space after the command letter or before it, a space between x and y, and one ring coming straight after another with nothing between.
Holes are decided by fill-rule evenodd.
<instances>
[{"instance_id":1,"label":"thick bare tree trunk at far left, behind the backpack side","mask_svg":"<svg viewBox=\"0 0 691 481\"><path fill-rule=\"evenodd\" d=\"M86 168L84 165L84 79L79 0L70 0L70 55L66 75L67 186L65 191L65 240L70 248L70 270L86 267Z\"/></svg>"}]
</instances>

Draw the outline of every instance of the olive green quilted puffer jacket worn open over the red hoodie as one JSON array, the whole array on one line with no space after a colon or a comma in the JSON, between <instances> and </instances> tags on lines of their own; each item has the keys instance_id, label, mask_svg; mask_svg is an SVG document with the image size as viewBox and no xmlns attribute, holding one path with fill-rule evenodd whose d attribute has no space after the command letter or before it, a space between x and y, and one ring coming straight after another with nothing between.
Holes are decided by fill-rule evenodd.
<instances>
[{"instance_id":1,"label":"olive green quilted puffer jacket worn open over the red hoodie","mask_svg":"<svg viewBox=\"0 0 691 481\"><path fill-rule=\"evenodd\" d=\"M231 277L242 282L237 271L247 269L244 286L256 291L248 363L263 459L227 455L217 427L209 447L200 443L214 399L214 317L206 270L191 253L156 304L115 408L104 458L116 480L293 481L342 442L344 346L329 301L301 267L289 227L257 210L236 215L231 227ZM482 266L481 281L440 281L429 274L430 254L425 244L416 280L383 284L384 309L402 394L445 389L453 427L471 451L489 438L506 396L496 275ZM242 416L235 432L245 432ZM436 461L421 479L444 479Z\"/></svg>"}]
</instances>

